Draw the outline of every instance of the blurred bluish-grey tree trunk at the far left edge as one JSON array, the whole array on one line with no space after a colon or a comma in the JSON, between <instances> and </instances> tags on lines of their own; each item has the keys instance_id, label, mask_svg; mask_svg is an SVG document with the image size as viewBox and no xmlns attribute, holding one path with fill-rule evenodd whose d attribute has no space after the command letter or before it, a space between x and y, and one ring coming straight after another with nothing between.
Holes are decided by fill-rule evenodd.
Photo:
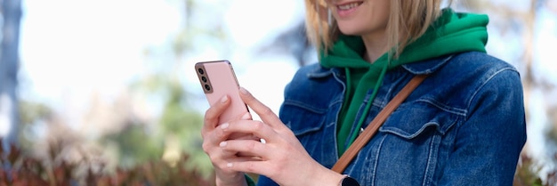
<instances>
[{"instance_id":1,"label":"blurred bluish-grey tree trunk at the far left edge","mask_svg":"<svg viewBox=\"0 0 557 186\"><path fill-rule=\"evenodd\" d=\"M2 5L2 48L0 48L0 125L9 126L7 142L18 139L18 70L21 1L4 0ZM0 126L2 127L2 126Z\"/></svg>"}]
</instances>

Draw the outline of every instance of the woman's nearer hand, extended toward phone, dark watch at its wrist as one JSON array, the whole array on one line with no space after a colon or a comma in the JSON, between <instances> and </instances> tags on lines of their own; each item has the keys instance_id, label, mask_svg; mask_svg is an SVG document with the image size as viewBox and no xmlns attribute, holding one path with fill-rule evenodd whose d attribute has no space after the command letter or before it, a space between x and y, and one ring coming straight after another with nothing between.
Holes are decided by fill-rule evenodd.
<instances>
[{"instance_id":1,"label":"woman's nearer hand, extended toward phone, dark watch at its wrist","mask_svg":"<svg viewBox=\"0 0 557 186\"><path fill-rule=\"evenodd\" d=\"M246 104L262 118L262 122L236 120L220 125L214 128L214 133L218 133L216 134L218 137L213 138L220 142L212 141L210 145L206 145L204 142L204 146L210 146L213 149L215 144L218 144L220 150L214 150L214 155L218 156L213 156L212 160L219 171L228 175L227 179L239 176L239 174L231 173L245 172L266 175L283 186L338 185L343 175L319 165L311 158L295 134L280 121L271 109L256 100L252 94L241 88L240 95ZM215 107L215 112L216 109ZM207 114L213 113L207 112ZM227 139L226 136L231 133L250 133L256 138L264 139L264 142L249 139ZM236 156L238 152L250 156ZM219 175L217 174L217 176Z\"/></svg>"}]
</instances>

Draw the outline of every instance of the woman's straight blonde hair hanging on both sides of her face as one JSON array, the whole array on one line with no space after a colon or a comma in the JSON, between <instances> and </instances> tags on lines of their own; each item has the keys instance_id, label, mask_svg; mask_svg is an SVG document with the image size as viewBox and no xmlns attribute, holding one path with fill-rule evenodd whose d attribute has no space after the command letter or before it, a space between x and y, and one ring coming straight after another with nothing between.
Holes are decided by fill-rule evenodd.
<instances>
[{"instance_id":1,"label":"woman's straight blonde hair hanging on both sides of her face","mask_svg":"<svg viewBox=\"0 0 557 186\"><path fill-rule=\"evenodd\" d=\"M330 16L326 1L305 0L306 33L318 50L329 49L340 33L334 18ZM437 20L442 0L389 1L391 12L387 23L387 44L392 48L390 57L396 59L408 44L424 35L427 28Z\"/></svg>"}]
</instances>

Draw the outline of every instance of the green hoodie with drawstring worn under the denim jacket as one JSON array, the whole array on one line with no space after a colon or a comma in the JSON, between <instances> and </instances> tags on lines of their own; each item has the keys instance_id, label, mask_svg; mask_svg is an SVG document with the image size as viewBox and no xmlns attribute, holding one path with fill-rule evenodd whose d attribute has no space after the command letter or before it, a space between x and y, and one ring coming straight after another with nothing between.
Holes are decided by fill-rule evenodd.
<instances>
[{"instance_id":1,"label":"green hoodie with drawstring worn under the denim jacket","mask_svg":"<svg viewBox=\"0 0 557 186\"><path fill-rule=\"evenodd\" d=\"M370 63L361 56L366 52L361 36L338 37L332 48L327 52L320 51L321 65L326 68L343 68L346 72L347 89L343 108L339 115L337 126L337 146L339 156L355 140L359 130L355 130L351 139L347 139L352 125L356 121L356 114L360 108L364 96L373 90L370 101L367 102L364 113L356 123L360 128L371 102L388 69L394 69L403 64L416 61L424 61L451 53L483 52L488 42L488 16L471 13L458 13L452 9L444 9L441 16L432 27L418 38L415 42L408 44L398 59L390 59L388 53L384 53L377 61Z\"/></svg>"}]
</instances>

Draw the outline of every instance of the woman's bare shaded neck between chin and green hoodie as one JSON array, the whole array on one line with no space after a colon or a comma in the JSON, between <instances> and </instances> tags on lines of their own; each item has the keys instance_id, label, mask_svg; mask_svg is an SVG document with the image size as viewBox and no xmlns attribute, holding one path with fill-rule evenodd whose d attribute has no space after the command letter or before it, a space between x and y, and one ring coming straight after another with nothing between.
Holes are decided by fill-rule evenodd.
<instances>
[{"instance_id":1,"label":"woman's bare shaded neck between chin and green hoodie","mask_svg":"<svg viewBox=\"0 0 557 186\"><path fill-rule=\"evenodd\" d=\"M362 40L366 45L366 53L364 60L374 63L383 53L387 53L387 37L383 34L362 36Z\"/></svg>"}]
</instances>

